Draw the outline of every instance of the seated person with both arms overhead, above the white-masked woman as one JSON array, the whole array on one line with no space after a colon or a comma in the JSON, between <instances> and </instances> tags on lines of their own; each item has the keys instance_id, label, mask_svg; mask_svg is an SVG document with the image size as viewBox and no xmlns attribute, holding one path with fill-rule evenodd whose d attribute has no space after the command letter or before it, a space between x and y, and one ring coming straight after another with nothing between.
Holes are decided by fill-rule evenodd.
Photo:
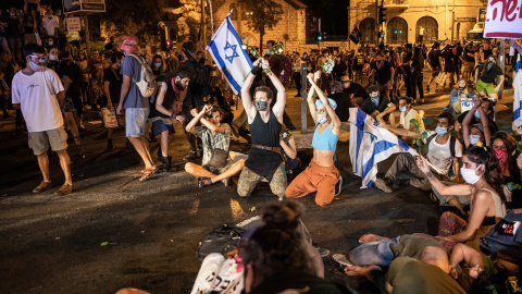
<instances>
[{"instance_id":1,"label":"seated person with both arms overhead, above the white-masked woman","mask_svg":"<svg viewBox=\"0 0 522 294\"><path fill-rule=\"evenodd\" d=\"M492 146L492 132L489 131L489 124L487 123L484 109L481 107L482 99L473 97L473 107L468 114L465 114L464 121L462 121L462 136L464 137L465 148L472 146ZM475 123L470 126L473 113L478 111L481 117L481 123Z\"/></svg>"}]
</instances>

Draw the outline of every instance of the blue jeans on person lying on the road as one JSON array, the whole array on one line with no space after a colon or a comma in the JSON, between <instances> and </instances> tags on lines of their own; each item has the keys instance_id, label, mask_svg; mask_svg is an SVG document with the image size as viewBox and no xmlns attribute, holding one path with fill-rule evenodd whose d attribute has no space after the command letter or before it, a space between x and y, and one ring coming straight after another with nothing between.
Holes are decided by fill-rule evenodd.
<instances>
[{"instance_id":1,"label":"blue jeans on person lying on the road","mask_svg":"<svg viewBox=\"0 0 522 294\"><path fill-rule=\"evenodd\" d=\"M390 244L399 244L400 236L361 244L350 252L350 260L356 266L388 267L395 258Z\"/></svg>"}]
</instances>

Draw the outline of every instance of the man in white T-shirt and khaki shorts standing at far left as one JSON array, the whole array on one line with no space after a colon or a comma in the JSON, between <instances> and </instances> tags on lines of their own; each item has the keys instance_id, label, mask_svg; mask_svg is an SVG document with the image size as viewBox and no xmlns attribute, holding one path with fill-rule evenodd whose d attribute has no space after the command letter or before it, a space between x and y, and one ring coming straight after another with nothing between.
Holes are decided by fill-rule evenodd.
<instances>
[{"instance_id":1,"label":"man in white T-shirt and khaki shorts standing at far left","mask_svg":"<svg viewBox=\"0 0 522 294\"><path fill-rule=\"evenodd\" d=\"M46 48L36 44L24 47L27 61L25 69L16 73L12 82L12 99L15 108L21 108L27 124L29 147L38 158L38 166L44 181L33 189L41 193L52 188L49 173L49 145L60 158L60 166L65 183L54 192L55 195L67 195L73 192L71 176L71 159L67 154L67 134L63 127L63 118L59 103L65 98L70 79L60 82L57 73L45 66Z\"/></svg>"}]
</instances>

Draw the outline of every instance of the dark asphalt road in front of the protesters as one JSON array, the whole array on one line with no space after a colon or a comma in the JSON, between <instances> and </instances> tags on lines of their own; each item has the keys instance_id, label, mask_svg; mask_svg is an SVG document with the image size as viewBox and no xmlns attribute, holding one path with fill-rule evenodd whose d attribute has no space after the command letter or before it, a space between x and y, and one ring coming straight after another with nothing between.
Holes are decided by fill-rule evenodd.
<instances>
[{"instance_id":1,"label":"dark asphalt road in front of the protesters","mask_svg":"<svg viewBox=\"0 0 522 294\"><path fill-rule=\"evenodd\" d=\"M438 114L448 93L430 96L417 109L426 117ZM299 127L299 98L288 91L288 112ZM433 95L433 94L432 94ZM497 113L502 130L511 126L512 95L500 100L508 107ZM215 226L237 223L259 215L277 200L268 184L251 197L239 198L236 186L215 184L197 188L183 171L162 173L138 182L138 155L126 149L123 130L115 132L115 150L104 152L105 131L87 124L83 134L87 157L74 158L74 194L54 196L53 191L34 195L41 181L36 158L25 135L12 133L12 120L0 120L0 293L114 293L134 286L152 293L189 293L199 269L199 242ZM309 120L310 121L310 120ZM170 154L181 159L188 150L179 126ZM156 152L158 143L152 143ZM71 154L75 155L71 145ZM360 177L351 174L349 144L340 142L339 158L345 171L343 192L327 207L313 203L313 195L299 201L307 207L303 222L319 246L331 253L347 253L366 232L395 236L403 233L436 233L444 208L426 192L402 187L385 194L360 189ZM245 140L235 142L245 151ZM310 150L299 157L304 166ZM154 156L156 158L156 156ZM378 166L386 172L393 158ZM52 182L63 175L57 156L51 158ZM345 279L355 287L358 278L345 277L324 258L326 278Z\"/></svg>"}]
</instances>

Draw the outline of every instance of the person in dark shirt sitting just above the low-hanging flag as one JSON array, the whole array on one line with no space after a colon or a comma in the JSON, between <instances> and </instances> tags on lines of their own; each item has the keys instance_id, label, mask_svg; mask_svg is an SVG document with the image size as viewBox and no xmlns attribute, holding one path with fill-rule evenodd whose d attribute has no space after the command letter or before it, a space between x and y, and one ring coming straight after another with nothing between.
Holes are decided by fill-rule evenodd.
<instances>
[{"instance_id":1,"label":"person in dark shirt sitting just above the low-hanging flag","mask_svg":"<svg viewBox=\"0 0 522 294\"><path fill-rule=\"evenodd\" d=\"M370 99L362 101L361 110L377 122L388 122L390 125L395 125L395 105L386 96L378 94L377 86L370 86L368 93L370 94Z\"/></svg>"}]
</instances>

